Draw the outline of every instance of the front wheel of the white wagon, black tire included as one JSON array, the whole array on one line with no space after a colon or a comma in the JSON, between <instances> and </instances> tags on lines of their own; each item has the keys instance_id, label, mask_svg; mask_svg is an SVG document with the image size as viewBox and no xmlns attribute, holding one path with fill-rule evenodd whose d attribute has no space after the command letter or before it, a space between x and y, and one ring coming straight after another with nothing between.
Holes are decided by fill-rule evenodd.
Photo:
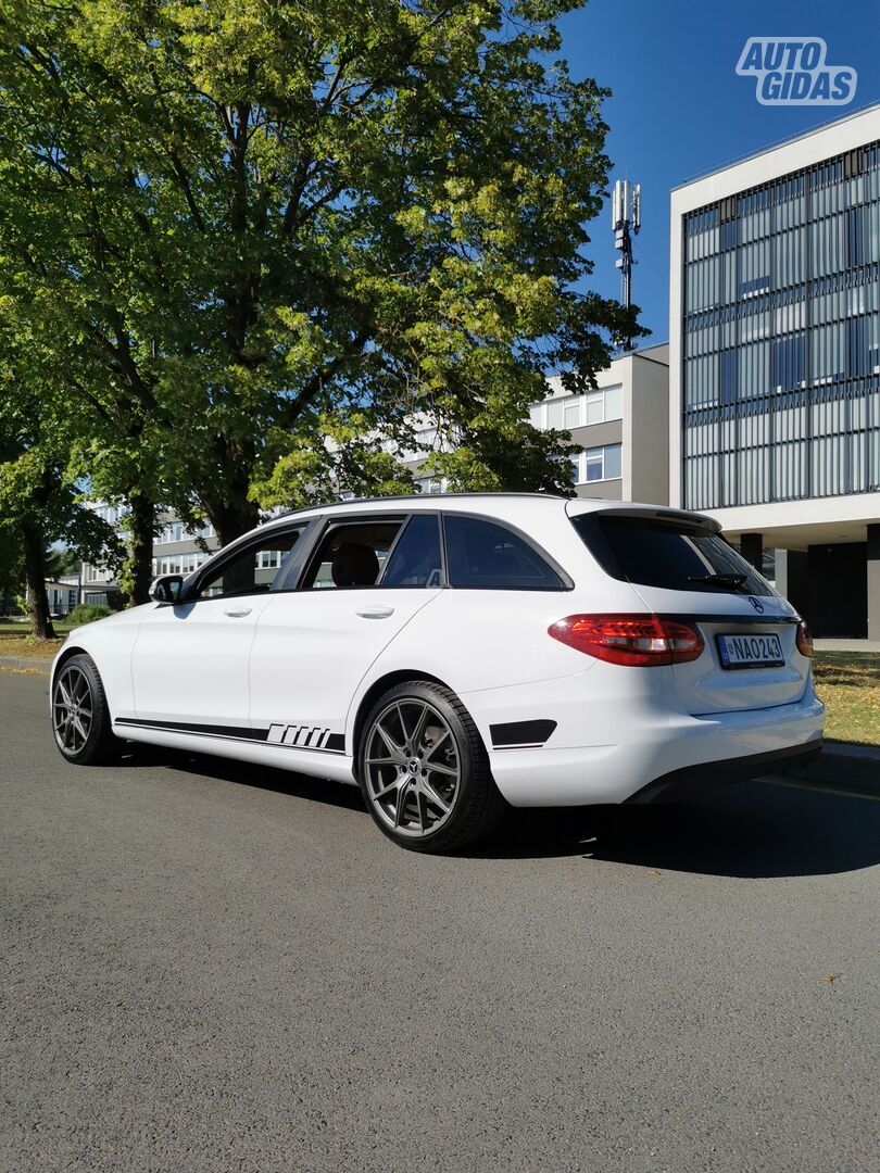
<instances>
[{"instance_id":1,"label":"front wheel of the white wagon, black tire included","mask_svg":"<svg viewBox=\"0 0 880 1173\"><path fill-rule=\"evenodd\" d=\"M119 757L110 708L95 662L84 652L66 659L52 682L52 732L62 758L101 766Z\"/></svg>"}]
</instances>

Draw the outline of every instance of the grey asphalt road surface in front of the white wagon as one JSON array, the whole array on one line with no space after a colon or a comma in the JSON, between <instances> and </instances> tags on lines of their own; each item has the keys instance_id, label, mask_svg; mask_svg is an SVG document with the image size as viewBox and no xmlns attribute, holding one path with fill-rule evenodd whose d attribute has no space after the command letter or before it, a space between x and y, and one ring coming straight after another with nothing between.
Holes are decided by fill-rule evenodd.
<instances>
[{"instance_id":1,"label":"grey asphalt road surface in front of the white wagon","mask_svg":"<svg viewBox=\"0 0 880 1173\"><path fill-rule=\"evenodd\" d=\"M68 766L45 693L0 673L4 1171L880 1167L879 801L422 857L333 784Z\"/></svg>"}]
</instances>

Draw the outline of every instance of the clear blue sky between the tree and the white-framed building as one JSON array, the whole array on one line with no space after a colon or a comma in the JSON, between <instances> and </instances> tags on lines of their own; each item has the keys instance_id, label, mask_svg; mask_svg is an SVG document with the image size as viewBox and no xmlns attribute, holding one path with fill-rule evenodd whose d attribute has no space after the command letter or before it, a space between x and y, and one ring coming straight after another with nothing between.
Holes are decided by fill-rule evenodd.
<instances>
[{"instance_id":1,"label":"clear blue sky between the tree and the white-framed building","mask_svg":"<svg viewBox=\"0 0 880 1173\"><path fill-rule=\"evenodd\" d=\"M642 184L642 232L636 238L634 300L652 337L669 334L669 192L790 135L880 101L880 7L873 0L591 0L561 21L562 54L575 77L591 76L614 91L605 102L611 182ZM747 38L823 38L827 62L858 70L846 107L766 107L754 81L736 65ZM620 297L610 212L588 229L596 263L593 287Z\"/></svg>"}]
</instances>

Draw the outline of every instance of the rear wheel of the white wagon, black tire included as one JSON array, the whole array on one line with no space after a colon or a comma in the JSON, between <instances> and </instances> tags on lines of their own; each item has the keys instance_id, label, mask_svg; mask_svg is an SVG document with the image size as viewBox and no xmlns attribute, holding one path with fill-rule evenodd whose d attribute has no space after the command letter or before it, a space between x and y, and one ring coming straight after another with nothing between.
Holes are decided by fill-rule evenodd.
<instances>
[{"instance_id":1,"label":"rear wheel of the white wagon, black tire included","mask_svg":"<svg viewBox=\"0 0 880 1173\"><path fill-rule=\"evenodd\" d=\"M422 707L427 716L419 730ZM391 743L408 753L395 753ZM358 781L383 834L413 852L476 843L508 809L467 708L429 680L399 684L373 705L358 745Z\"/></svg>"}]
</instances>

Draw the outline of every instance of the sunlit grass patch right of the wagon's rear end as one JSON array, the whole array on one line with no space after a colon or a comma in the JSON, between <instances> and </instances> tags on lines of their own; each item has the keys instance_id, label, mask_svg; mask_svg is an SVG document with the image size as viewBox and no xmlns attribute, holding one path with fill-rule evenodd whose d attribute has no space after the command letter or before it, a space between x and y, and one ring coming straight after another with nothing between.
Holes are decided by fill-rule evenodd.
<instances>
[{"instance_id":1,"label":"sunlit grass patch right of the wagon's rear end","mask_svg":"<svg viewBox=\"0 0 880 1173\"><path fill-rule=\"evenodd\" d=\"M880 745L880 653L817 652L815 691L828 710L825 735Z\"/></svg>"}]
</instances>

